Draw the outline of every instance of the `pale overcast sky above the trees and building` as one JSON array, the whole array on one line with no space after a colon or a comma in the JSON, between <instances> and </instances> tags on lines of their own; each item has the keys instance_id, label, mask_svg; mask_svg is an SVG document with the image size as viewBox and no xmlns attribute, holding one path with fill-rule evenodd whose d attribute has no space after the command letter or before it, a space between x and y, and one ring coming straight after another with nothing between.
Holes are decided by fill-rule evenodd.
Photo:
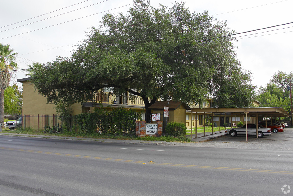
<instances>
[{"instance_id":1,"label":"pale overcast sky above the trees and building","mask_svg":"<svg viewBox=\"0 0 293 196\"><path fill-rule=\"evenodd\" d=\"M171 7L172 2L150 0L153 7ZM132 0L2 1L0 42L18 52L18 70L34 62L52 62L57 56L71 56L75 45L86 38L91 26L100 25L106 13L126 15L131 4ZM230 30L237 33L281 25L238 35L237 59L251 71L252 84L258 88L278 71L293 71L293 23L282 25L293 22L293 0L186 0L185 6L191 12L208 11L214 19L227 21ZM14 71L11 84L21 86L16 80L28 77L26 73Z\"/></svg>"}]
</instances>

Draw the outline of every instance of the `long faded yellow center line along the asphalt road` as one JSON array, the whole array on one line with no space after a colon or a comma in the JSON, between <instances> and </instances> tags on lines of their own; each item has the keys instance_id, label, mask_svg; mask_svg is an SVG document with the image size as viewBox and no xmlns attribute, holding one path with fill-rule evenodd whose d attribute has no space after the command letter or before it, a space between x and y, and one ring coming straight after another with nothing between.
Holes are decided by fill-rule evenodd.
<instances>
[{"instance_id":1,"label":"long faded yellow center line along the asphalt road","mask_svg":"<svg viewBox=\"0 0 293 196\"><path fill-rule=\"evenodd\" d=\"M263 169L245 169L245 168L231 168L231 167L217 167L217 166L203 166L203 165L186 165L186 164L174 164L174 163L159 163L159 162L149 162L149 161L134 161L134 160L126 160L126 159L112 159L112 158L104 158L104 157L91 157L84 155L75 155L75 154L64 154L64 153L56 153L56 152L42 152L36 150L25 150L25 149L15 149L15 148L6 148L1 147L1 149L7 150L16 150L23 152L34 152L34 153L42 153L42 154L53 154L53 155L61 155L61 156L69 156L69 157L80 157L80 158L88 158L88 159L101 159L108 161L123 161L123 162L131 162L131 163L146 163L153 165L168 165L168 166L180 166L180 167L192 167L192 168L205 168L205 169L224 169L231 171L254 171L254 172L266 172L266 173L286 173L293 174L293 171L277 171L277 170L263 170Z\"/></svg>"}]
</instances>

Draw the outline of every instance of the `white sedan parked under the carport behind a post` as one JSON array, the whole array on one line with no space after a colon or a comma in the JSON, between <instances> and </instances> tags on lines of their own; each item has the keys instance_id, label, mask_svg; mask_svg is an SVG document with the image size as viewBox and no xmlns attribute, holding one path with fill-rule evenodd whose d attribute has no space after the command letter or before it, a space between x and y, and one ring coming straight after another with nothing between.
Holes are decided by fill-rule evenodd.
<instances>
[{"instance_id":1,"label":"white sedan parked under the carport behind a post","mask_svg":"<svg viewBox=\"0 0 293 196\"><path fill-rule=\"evenodd\" d=\"M227 134L231 136L236 135L245 135L246 134L246 125L243 125L239 128L231 128L226 130ZM264 135L271 135L271 129L265 128L262 125L258 125L258 137L263 137ZM256 124L247 124L247 135L256 135Z\"/></svg>"}]
</instances>

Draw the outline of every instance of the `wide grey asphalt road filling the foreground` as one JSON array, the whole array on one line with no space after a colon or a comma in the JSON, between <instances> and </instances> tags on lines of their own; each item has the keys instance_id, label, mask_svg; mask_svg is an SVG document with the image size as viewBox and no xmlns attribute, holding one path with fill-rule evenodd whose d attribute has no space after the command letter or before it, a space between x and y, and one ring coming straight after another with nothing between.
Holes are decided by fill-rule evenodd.
<instances>
[{"instance_id":1,"label":"wide grey asphalt road filling the foreground","mask_svg":"<svg viewBox=\"0 0 293 196\"><path fill-rule=\"evenodd\" d=\"M293 187L291 149L219 140L170 146L0 135L0 195L284 195L283 185ZM227 146L208 146L217 143Z\"/></svg>"}]
</instances>

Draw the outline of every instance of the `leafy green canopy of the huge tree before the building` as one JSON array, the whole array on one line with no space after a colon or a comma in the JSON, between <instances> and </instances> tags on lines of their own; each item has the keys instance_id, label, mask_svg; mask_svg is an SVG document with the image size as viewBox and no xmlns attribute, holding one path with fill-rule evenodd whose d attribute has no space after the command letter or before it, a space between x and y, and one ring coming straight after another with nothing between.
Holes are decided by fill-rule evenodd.
<instances>
[{"instance_id":1,"label":"leafy green canopy of the huge tree before the building","mask_svg":"<svg viewBox=\"0 0 293 196\"><path fill-rule=\"evenodd\" d=\"M93 91L115 87L142 97L146 109L157 99L201 103L208 96L247 106L254 86L236 59L234 38L212 39L232 33L226 22L190 12L184 2L168 9L137 0L126 16L103 16L71 57L34 65L30 74L54 104L83 102Z\"/></svg>"}]
</instances>

